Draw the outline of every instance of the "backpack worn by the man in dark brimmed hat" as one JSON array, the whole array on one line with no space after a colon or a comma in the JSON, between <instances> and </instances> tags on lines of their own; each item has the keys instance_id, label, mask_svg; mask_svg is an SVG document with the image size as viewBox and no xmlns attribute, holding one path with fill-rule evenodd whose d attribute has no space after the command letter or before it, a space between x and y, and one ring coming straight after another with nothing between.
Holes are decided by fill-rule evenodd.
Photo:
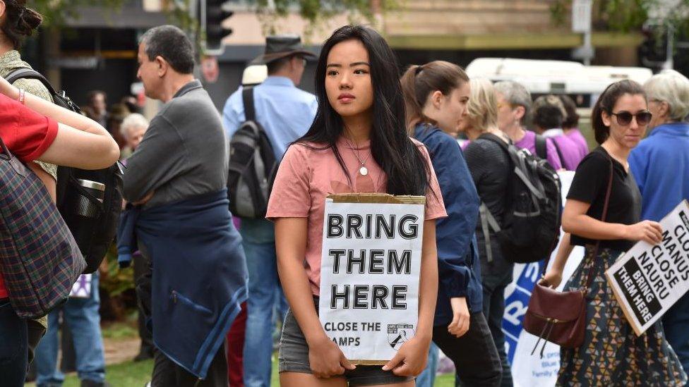
<instances>
[{"instance_id":1,"label":"backpack worn by the man in dark brimmed hat","mask_svg":"<svg viewBox=\"0 0 689 387\"><path fill-rule=\"evenodd\" d=\"M246 121L229 139L229 210L241 218L263 219L277 160L263 126L256 121L253 87L241 92Z\"/></svg>"}]
</instances>

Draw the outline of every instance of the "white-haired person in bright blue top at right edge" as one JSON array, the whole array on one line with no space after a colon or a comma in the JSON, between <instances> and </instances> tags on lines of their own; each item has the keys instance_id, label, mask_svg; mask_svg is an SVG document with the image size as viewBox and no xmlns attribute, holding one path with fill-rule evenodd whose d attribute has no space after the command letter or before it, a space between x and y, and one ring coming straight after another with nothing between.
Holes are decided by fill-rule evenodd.
<instances>
[{"instance_id":1,"label":"white-haired person in bright blue top at right edge","mask_svg":"<svg viewBox=\"0 0 689 387\"><path fill-rule=\"evenodd\" d=\"M653 113L649 135L632 149L629 167L641 191L641 219L660 221L689 198L689 80L673 70L654 75L644 85ZM686 268L686 265L684 267ZM689 369L689 295L663 316L665 335Z\"/></svg>"}]
</instances>

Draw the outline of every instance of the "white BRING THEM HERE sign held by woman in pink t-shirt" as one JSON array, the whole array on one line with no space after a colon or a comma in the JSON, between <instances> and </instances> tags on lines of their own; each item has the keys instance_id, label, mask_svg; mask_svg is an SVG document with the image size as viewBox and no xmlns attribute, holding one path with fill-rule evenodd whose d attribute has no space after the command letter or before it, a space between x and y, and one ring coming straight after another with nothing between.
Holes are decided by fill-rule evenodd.
<instances>
[{"instance_id":1,"label":"white BRING THEM HERE sign held by woman in pink t-shirt","mask_svg":"<svg viewBox=\"0 0 689 387\"><path fill-rule=\"evenodd\" d=\"M328 195L320 324L354 364L385 364L414 336L426 198Z\"/></svg>"}]
</instances>

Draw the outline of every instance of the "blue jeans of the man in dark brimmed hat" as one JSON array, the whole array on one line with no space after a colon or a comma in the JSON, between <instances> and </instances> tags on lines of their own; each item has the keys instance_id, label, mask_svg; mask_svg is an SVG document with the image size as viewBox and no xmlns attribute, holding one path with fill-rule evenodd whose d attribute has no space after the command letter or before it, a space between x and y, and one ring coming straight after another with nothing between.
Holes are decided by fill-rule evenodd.
<instances>
[{"instance_id":1,"label":"blue jeans of the man in dark brimmed hat","mask_svg":"<svg viewBox=\"0 0 689 387\"><path fill-rule=\"evenodd\" d=\"M241 219L239 233L248 270L244 385L269 387L276 303L281 317L287 312L280 279L277 278L275 230L272 222L264 219Z\"/></svg>"}]
</instances>

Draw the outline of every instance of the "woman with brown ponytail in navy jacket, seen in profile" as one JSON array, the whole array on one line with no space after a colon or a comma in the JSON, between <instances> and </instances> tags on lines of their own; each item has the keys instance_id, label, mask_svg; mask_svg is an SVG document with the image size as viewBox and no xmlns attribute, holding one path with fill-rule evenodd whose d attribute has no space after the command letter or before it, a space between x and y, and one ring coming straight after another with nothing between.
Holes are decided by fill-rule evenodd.
<instances>
[{"instance_id":1,"label":"woman with brown ponytail in navy jacket, seen in profile","mask_svg":"<svg viewBox=\"0 0 689 387\"><path fill-rule=\"evenodd\" d=\"M467 114L469 77L460 66L433 61L410 66L402 75L402 90L409 131L429 149L448 213L436 223L439 279L433 343L453 360L465 385L498 386L502 366L483 314L474 238L479 195L453 137Z\"/></svg>"}]
</instances>

